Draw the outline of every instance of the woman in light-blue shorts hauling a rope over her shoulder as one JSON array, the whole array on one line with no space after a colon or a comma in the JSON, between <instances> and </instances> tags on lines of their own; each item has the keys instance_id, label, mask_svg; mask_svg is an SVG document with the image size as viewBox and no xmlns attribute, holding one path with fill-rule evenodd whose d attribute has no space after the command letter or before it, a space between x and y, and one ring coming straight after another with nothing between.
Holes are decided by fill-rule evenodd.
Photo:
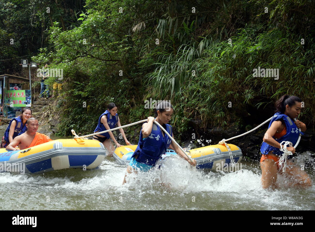
<instances>
[{"instance_id":1,"label":"woman in light-blue shorts hauling a rope over her shoulder","mask_svg":"<svg viewBox=\"0 0 315 232\"><path fill-rule=\"evenodd\" d=\"M149 171L155 166L157 160L166 153L166 149L170 148L174 150L178 155L183 157L189 164L196 165L196 160L190 162L180 148L164 134L157 124L153 121L156 120L163 128L173 136L172 126L167 124L173 114L173 106L168 101L162 101L157 105L155 109L155 119L148 117L148 122L143 123L140 131L140 138L138 147L134 154L131 156L131 161L127 167L127 173L133 171ZM126 176L123 179L123 184L126 183Z\"/></svg>"}]
</instances>

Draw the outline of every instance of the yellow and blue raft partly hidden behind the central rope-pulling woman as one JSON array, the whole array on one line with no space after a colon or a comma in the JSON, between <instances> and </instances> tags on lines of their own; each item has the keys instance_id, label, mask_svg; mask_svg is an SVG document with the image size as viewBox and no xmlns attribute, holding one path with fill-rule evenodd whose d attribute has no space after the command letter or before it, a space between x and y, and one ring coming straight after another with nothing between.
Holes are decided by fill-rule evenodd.
<instances>
[{"instance_id":1,"label":"yellow and blue raft partly hidden behind the central rope-pulling woman","mask_svg":"<svg viewBox=\"0 0 315 232\"><path fill-rule=\"evenodd\" d=\"M241 149L233 144L228 145L231 148L235 163L240 163L243 156ZM113 156L119 164L129 164L131 156L136 148L137 145L119 147L114 151ZM224 166L231 162L227 148L220 144L192 149L187 151L187 153L191 155L192 159L196 160L197 168L216 170L218 167L222 167L223 170ZM170 155L176 155L176 153L173 150L168 150L166 154L162 155L162 159Z\"/></svg>"}]
</instances>

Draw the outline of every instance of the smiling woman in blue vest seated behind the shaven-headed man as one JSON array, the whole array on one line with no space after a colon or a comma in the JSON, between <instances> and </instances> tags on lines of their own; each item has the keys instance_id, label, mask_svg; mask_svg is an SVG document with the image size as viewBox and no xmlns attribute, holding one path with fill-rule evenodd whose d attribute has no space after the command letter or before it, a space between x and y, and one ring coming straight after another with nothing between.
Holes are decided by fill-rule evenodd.
<instances>
[{"instance_id":1,"label":"smiling woman in blue vest seated behind the shaven-headed man","mask_svg":"<svg viewBox=\"0 0 315 232\"><path fill-rule=\"evenodd\" d=\"M25 107L22 109L22 113L20 116L12 119L7 127L7 130L4 132L4 136L2 138L1 146L6 148L7 145L13 141L13 139L27 131L26 121L31 118L32 110L29 107Z\"/></svg>"}]
</instances>

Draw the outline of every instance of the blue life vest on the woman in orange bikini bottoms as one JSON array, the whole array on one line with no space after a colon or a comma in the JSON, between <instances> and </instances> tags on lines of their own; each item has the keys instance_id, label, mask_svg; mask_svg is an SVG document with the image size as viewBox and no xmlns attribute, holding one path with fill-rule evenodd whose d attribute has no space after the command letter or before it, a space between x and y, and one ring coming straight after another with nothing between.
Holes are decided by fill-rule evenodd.
<instances>
[{"instance_id":1,"label":"blue life vest on the woman in orange bikini bottoms","mask_svg":"<svg viewBox=\"0 0 315 232\"><path fill-rule=\"evenodd\" d=\"M288 115L285 115L285 114L280 113L280 112L275 113L273 115L273 118L271 119L271 121L269 123L268 129L270 128L271 124L274 121L279 120L279 119L283 119L287 133L284 136L282 136L281 138L278 138L275 140L278 143L281 143L282 141L289 141L289 142L292 142L292 144L294 146L296 144L298 138L299 138L299 132L300 131L296 127L294 121ZM300 132L300 133L303 135L302 132ZM274 138L274 136L272 138ZM288 145L288 147L289 147L289 145ZM273 151L273 154L276 154L276 155L282 155L283 154L283 152L280 151L279 148L275 148L266 142L263 142L261 144L260 151L261 151L261 154L265 154L265 155L268 154L269 151Z\"/></svg>"}]
</instances>

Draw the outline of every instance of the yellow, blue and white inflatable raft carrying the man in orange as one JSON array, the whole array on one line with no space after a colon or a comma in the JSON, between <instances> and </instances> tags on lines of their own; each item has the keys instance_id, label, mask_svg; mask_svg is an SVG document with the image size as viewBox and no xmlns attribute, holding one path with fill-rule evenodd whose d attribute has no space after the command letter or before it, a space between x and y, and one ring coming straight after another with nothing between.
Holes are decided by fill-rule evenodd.
<instances>
[{"instance_id":1,"label":"yellow, blue and white inflatable raft carrying the man in orange","mask_svg":"<svg viewBox=\"0 0 315 232\"><path fill-rule=\"evenodd\" d=\"M0 172L43 173L65 168L94 169L106 156L96 140L57 139L18 151L0 149Z\"/></svg>"}]
</instances>

